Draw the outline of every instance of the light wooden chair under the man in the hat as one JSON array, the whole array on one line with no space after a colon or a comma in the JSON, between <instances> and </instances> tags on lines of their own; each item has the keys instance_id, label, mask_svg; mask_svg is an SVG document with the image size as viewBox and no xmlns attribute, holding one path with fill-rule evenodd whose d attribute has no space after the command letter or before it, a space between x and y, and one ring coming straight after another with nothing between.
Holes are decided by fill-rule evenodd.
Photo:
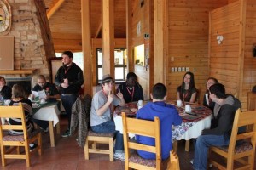
<instances>
[{"instance_id":1,"label":"light wooden chair under the man in the hat","mask_svg":"<svg viewBox=\"0 0 256 170\"><path fill-rule=\"evenodd\" d=\"M96 144L108 144L108 149L96 148ZM84 145L84 158L89 160L89 153L108 154L113 161L113 133L94 133L89 130Z\"/></svg>"}]
</instances>

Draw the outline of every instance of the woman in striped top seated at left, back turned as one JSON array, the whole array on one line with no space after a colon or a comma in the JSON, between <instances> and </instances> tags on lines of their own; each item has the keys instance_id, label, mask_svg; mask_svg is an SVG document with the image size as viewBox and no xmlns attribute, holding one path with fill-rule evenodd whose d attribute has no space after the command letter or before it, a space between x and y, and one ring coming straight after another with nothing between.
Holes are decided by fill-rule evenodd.
<instances>
[{"instance_id":1,"label":"woman in striped top seated at left, back turned","mask_svg":"<svg viewBox=\"0 0 256 170\"><path fill-rule=\"evenodd\" d=\"M24 89L18 85L15 84L13 86L12 90L13 94L13 99L11 99L9 105L19 105L21 102L23 105L24 113L25 113L25 118L26 118L26 128L27 128L27 133L32 133L34 127L33 127L33 122L31 121L32 118L32 103L29 99L26 99L26 93ZM20 119L14 119L14 118L9 118L8 123L10 125L21 125L21 120ZM9 130L10 135L21 135L23 134L22 130ZM29 144L30 150L33 150L37 147L37 144Z\"/></svg>"}]
</instances>

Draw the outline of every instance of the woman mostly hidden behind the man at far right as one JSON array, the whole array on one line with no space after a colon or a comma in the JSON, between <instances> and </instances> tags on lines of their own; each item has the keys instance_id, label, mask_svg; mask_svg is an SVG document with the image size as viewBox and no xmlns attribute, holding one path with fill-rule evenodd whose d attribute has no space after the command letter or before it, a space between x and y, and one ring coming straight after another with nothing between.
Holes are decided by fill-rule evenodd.
<instances>
[{"instance_id":1,"label":"woman mostly hidden behind the man at far right","mask_svg":"<svg viewBox=\"0 0 256 170\"><path fill-rule=\"evenodd\" d=\"M218 80L214 77L209 77L207 79L207 92L204 95L204 100L203 100L203 105L207 106L208 108L210 108L213 111L214 105L215 103L212 102L212 99L210 98L209 95L209 88L213 85L213 84L217 84Z\"/></svg>"}]
</instances>

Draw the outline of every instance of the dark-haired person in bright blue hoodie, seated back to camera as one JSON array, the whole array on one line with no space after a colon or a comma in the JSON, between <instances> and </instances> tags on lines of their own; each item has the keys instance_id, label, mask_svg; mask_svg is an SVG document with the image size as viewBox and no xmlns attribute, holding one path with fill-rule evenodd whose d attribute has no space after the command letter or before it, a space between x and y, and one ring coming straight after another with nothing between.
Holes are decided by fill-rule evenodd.
<instances>
[{"instance_id":1,"label":"dark-haired person in bright blue hoodie, seated back to camera","mask_svg":"<svg viewBox=\"0 0 256 170\"><path fill-rule=\"evenodd\" d=\"M157 116L160 119L160 142L162 160L166 160L170 156L172 150L172 125L177 126L182 123L182 117L174 105L166 104L166 86L162 83L157 83L153 87L153 92L150 94L153 102L148 102L142 109L137 111L137 119L154 121ZM155 145L154 139L145 136L136 136L137 143ZM143 150L137 150L139 156L145 159L155 159L155 154Z\"/></svg>"}]
</instances>

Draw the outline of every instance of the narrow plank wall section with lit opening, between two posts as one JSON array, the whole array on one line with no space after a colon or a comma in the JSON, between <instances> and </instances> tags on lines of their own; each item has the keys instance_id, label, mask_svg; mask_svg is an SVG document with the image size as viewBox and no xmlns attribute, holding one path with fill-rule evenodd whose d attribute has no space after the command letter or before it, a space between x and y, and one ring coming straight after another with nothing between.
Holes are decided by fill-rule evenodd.
<instances>
[{"instance_id":1,"label":"narrow plank wall section with lit opening, between two posts","mask_svg":"<svg viewBox=\"0 0 256 170\"><path fill-rule=\"evenodd\" d=\"M141 45L145 43L144 40L144 33L149 33L149 43L151 44L151 39L153 38L153 34L151 31L151 23L153 23L152 19L151 19L151 13L150 8L153 3L153 1L151 0L144 0L143 1L143 6L141 6L141 2L139 0L135 0L132 4L132 37L131 37L131 47L134 48L137 45ZM138 22L141 23L141 31L139 34L137 34L137 24ZM152 59L152 46L150 47L150 52L149 52L149 56L150 59ZM151 61L151 60L150 60ZM135 63L133 61L133 63ZM152 63L152 62L151 62ZM151 65L154 65L153 63ZM149 79L149 73L150 73L150 68L146 69L145 67L143 67L142 65L135 65L134 66L134 72L137 74L138 77L138 82L142 85L143 87L143 94L144 94L144 99L149 99L149 92L150 92L150 88L149 88L149 84L150 84L150 79Z\"/></svg>"}]
</instances>

